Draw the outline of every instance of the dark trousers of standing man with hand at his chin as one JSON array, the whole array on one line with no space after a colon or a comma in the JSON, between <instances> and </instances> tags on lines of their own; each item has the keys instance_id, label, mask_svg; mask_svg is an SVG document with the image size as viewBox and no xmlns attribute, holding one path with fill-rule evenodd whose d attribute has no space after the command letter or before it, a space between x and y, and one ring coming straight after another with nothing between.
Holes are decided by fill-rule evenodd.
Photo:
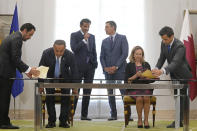
<instances>
[{"instance_id":1,"label":"dark trousers of standing man with hand at his chin","mask_svg":"<svg viewBox=\"0 0 197 131\"><path fill-rule=\"evenodd\" d=\"M79 71L79 79L82 80L84 78L84 83L92 83L94 79L94 73L95 73L95 68L93 68L92 65L88 64L86 70ZM88 107L90 103L91 92L92 89L83 89L83 95L89 95L89 96L83 96L82 98L82 109L81 109L82 117L88 116ZM78 89L78 93L80 93L80 89ZM76 110L77 102L78 102L78 97L75 97L74 110Z\"/></svg>"}]
</instances>

